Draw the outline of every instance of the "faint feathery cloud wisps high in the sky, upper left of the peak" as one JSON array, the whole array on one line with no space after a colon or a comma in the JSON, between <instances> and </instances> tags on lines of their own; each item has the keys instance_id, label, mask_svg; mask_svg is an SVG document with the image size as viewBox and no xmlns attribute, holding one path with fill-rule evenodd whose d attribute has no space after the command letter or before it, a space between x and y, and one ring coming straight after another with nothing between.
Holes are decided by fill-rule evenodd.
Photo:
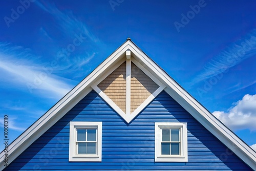
<instances>
[{"instance_id":1,"label":"faint feathery cloud wisps high in the sky, upper left of the peak","mask_svg":"<svg viewBox=\"0 0 256 171\"><path fill-rule=\"evenodd\" d=\"M47 25L44 26L46 28L40 28L42 36L56 41L54 47L48 49L48 51L52 51L53 58L59 63L59 67L54 72L59 75L65 73L66 76L70 74L68 76L73 79L84 77L84 73L90 71L89 62L98 54L99 48L102 50L105 47L103 42L72 11L60 10L54 3L48 1L36 1L35 4L50 14L55 20L56 31L65 37L59 42L55 34L47 32L47 30L52 30L47 29Z\"/></svg>"}]
</instances>

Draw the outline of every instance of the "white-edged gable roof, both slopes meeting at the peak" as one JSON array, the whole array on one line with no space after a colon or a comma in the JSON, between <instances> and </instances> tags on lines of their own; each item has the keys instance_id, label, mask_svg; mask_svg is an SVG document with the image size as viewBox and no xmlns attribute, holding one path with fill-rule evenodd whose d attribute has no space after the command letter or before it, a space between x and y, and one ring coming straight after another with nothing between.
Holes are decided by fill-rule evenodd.
<instances>
[{"instance_id":1,"label":"white-edged gable roof, both slopes meeting at the peak","mask_svg":"<svg viewBox=\"0 0 256 171\"><path fill-rule=\"evenodd\" d=\"M90 93L91 90L95 90L97 82L106 77L105 71L109 71L108 74L110 74L110 71L120 64L121 59L129 58L129 56L132 56L139 63L138 65L143 68L143 72L146 72L147 75L151 75L151 78L161 83L161 89L164 89L165 92L173 97L209 132L231 149L233 153L240 157L252 169L256 170L256 153L222 122L207 111L196 99L189 95L173 78L164 72L150 57L143 53L130 38L8 146L8 163L11 163L24 152L27 147L71 110L84 96ZM141 108L143 108L143 106ZM137 114L139 114L139 112ZM122 116L120 113L119 115ZM124 120L129 123L135 116ZM0 154L1 170L5 167L4 156L5 152L3 151Z\"/></svg>"}]
</instances>

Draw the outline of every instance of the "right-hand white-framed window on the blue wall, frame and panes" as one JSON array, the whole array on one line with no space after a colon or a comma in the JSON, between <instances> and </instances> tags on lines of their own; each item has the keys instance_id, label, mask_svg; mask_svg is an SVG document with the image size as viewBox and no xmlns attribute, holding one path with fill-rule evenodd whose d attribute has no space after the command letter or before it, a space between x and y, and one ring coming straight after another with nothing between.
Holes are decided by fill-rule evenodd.
<instances>
[{"instance_id":1,"label":"right-hand white-framed window on the blue wall, frame and panes","mask_svg":"<svg viewBox=\"0 0 256 171\"><path fill-rule=\"evenodd\" d=\"M155 161L187 162L186 123L155 123Z\"/></svg>"}]
</instances>

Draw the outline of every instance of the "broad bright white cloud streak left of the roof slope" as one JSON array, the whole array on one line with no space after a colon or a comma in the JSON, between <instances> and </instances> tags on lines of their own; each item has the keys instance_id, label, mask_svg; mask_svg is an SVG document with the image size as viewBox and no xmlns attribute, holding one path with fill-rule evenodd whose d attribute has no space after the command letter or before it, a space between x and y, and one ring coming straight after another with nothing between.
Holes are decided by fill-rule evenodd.
<instances>
[{"instance_id":1,"label":"broad bright white cloud streak left of the roof slope","mask_svg":"<svg viewBox=\"0 0 256 171\"><path fill-rule=\"evenodd\" d=\"M49 92L57 99L71 90L73 85L66 83L70 80L56 76L43 66L24 58L32 55L21 49L0 43L0 70L4 73L0 77L14 86L18 83L30 93L44 90L44 93Z\"/></svg>"}]
</instances>

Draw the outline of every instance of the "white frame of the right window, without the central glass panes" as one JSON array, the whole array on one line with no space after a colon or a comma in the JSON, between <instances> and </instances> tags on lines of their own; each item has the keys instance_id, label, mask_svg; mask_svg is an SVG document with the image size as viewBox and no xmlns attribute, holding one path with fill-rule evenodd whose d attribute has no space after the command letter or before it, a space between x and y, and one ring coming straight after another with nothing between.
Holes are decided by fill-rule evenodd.
<instances>
[{"instance_id":1,"label":"white frame of the right window, without the central glass panes","mask_svg":"<svg viewBox=\"0 0 256 171\"><path fill-rule=\"evenodd\" d=\"M180 130L180 155L161 155L161 129ZM155 162L187 162L187 123L155 122Z\"/></svg>"}]
</instances>

